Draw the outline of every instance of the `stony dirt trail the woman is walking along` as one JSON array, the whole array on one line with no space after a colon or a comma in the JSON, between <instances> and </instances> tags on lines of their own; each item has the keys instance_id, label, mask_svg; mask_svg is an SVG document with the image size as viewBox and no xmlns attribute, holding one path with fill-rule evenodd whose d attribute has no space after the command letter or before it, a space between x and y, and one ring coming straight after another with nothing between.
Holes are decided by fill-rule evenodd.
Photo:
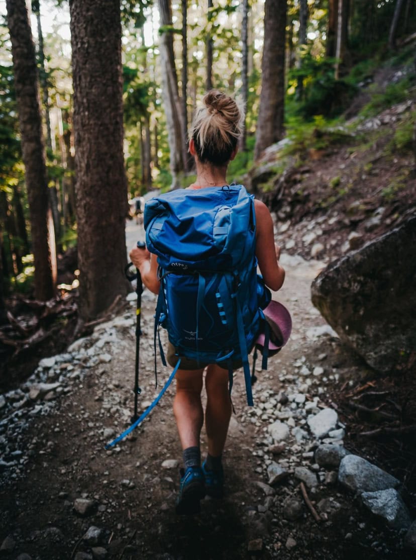
<instances>
[{"instance_id":1,"label":"stony dirt trail the woman is walking along","mask_svg":"<svg viewBox=\"0 0 416 560\"><path fill-rule=\"evenodd\" d=\"M129 222L127 237L127 245L132 246L142 239L142 232ZM317 338L316 329L324 321L310 303L310 283L322 263L286 256L283 264L287 279L276 297L291 311L293 334L282 353L270 360L269 371L258 372L254 410L246 407L244 380L241 373L236 375L232 395L236 414L224 455L225 499L205 498L201 514L195 517L178 517L174 513L180 466L175 465L175 460L181 459L171 412L174 388L167 391L149 419L128 440L115 450L104 450L111 434L118 435L133 412L132 301L131 307L118 318L118 326L97 329L92 342L105 341L100 356L95 363L89 362L90 367L85 367L87 362L81 360L77 367L83 367L83 374L74 376L71 392L60 396L52 412L35 418L16 436L16 449L24 452L27 460L20 469L23 475L10 469L2 473L0 544L9 539L8 548L3 549L5 555L19 558L19 554L25 553L42 560L228 560L250 558L253 554L299 560L395 558L390 545L374 545L380 544L378 533L353 510L351 497L340 493L336 486L321 485L310 494L314 503L322 496L336 498L340 510L334 517L328 519L327 515L327 521L318 525L303 504L296 520L287 519L290 501L295 497L302 501L298 481L291 474L293 466L311 463L312 440L289 437L278 456L283 466L287 464L289 477L274 488L264 485L268 482L267 466L276 459L267 445L267 427L276 418L273 409L284 410L281 404L268 408L268 403L284 402L282 390L287 395L298 395L303 390L306 402L315 398L316 403L324 403L325 388L338 379L329 363L338 352L338 343L328 335ZM154 307L155 297L144 292L142 409L156 394ZM91 348L92 342L86 341L86 348ZM88 355L92 356L92 351L87 351ZM336 361L339 362L339 353ZM302 389L300 368L309 365L312 371L317 364L324 365L325 374L309 376ZM345 363L345 369L349 367ZM168 368L161 370L160 386L170 373ZM294 404L292 409L296 407ZM7 428L6 437L12 428ZM204 453L204 436L202 440ZM168 459L172 468L162 467ZM84 501L77 502L80 499ZM78 510L85 506L87 511L77 514L74 506ZM97 530L90 531L90 538L84 538L91 526Z\"/></svg>"}]
</instances>

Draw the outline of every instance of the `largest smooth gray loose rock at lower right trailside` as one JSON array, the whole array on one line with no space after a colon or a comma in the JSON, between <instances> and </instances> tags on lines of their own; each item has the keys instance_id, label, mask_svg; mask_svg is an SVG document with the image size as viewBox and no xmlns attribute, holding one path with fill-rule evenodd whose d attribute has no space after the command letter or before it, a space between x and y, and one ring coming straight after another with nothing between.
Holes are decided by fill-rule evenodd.
<instances>
[{"instance_id":1,"label":"largest smooth gray loose rock at lower right trailside","mask_svg":"<svg viewBox=\"0 0 416 560\"><path fill-rule=\"evenodd\" d=\"M338 471L338 480L353 492L376 492L396 488L400 481L358 455L345 456Z\"/></svg>"}]
</instances>

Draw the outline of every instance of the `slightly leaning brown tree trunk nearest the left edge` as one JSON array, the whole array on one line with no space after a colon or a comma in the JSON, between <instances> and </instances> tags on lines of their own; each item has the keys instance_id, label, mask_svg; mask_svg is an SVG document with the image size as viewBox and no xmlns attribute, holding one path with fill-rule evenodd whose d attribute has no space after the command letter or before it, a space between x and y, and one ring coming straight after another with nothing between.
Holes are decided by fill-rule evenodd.
<instances>
[{"instance_id":1,"label":"slightly leaning brown tree trunk nearest the left edge","mask_svg":"<svg viewBox=\"0 0 416 560\"><path fill-rule=\"evenodd\" d=\"M12 43L22 157L29 199L35 262L35 297L39 300L49 300L54 295L54 284L48 247L48 185L35 48L25 0L7 0L6 6Z\"/></svg>"}]
</instances>

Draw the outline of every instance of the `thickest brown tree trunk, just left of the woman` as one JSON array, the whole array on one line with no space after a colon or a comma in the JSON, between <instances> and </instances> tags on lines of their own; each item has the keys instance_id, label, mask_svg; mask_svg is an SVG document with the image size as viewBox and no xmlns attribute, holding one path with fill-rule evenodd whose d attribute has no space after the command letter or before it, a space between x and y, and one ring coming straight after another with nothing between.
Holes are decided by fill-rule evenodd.
<instances>
[{"instance_id":1,"label":"thickest brown tree trunk, just left of the woman","mask_svg":"<svg viewBox=\"0 0 416 560\"><path fill-rule=\"evenodd\" d=\"M123 157L118 0L70 0L80 313L125 296L127 180Z\"/></svg>"}]
</instances>

